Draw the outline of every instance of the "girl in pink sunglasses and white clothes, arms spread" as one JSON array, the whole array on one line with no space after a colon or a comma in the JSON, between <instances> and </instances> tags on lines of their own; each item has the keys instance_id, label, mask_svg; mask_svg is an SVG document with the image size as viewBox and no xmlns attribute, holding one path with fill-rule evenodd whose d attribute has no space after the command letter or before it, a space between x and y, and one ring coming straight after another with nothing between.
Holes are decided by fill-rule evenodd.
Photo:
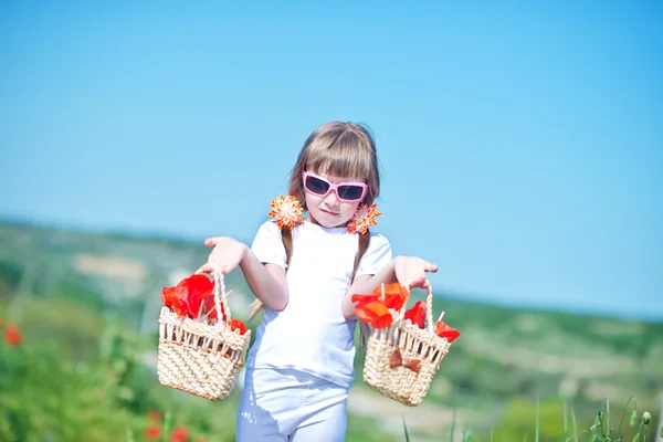
<instances>
[{"instance_id":1,"label":"girl in pink sunglasses and white clothes, arms spread","mask_svg":"<svg viewBox=\"0 0 663 442\"><path fill-rule=\"evenodd\" d=\"M238 441L345 440L357 323L351 295L396 281L425 288L425 272L438 271L419 257L392 259L389 241L367 229L380 214L372 204L379 190L370 134L328 123L304 143L288 198L272 201L274 220L260 227L251 248L227 236L206 240L223 273L242 270L257 298L253 314L264 308L246 358ZM362 344L368 332L361 328Z\"/></svg>"}]
</instances>

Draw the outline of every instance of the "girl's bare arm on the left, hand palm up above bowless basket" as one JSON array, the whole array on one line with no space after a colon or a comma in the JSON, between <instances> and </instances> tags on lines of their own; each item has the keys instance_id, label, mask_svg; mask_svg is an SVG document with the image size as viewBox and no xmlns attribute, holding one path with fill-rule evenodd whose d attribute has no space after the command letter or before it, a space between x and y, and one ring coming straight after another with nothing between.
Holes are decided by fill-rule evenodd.
<instances>
[{"instance_id":1,"label":"girl's bare arm on the left, hand palm up above bowless basket","mask_svg":"<svg viewBox=\"0 0 663 442\"><path fill-rule=\"evenodd\" d=\"M229 236L210 238L204 244L214 246L208 262L215 263L223 274L232 272L239 265L249 287L265 307L274 311L285 308L288 292L285 271L281 266L263 264L246 244ZM212 267L204 265L203 271L211 272Z\"/></svg>"}]
</instances>

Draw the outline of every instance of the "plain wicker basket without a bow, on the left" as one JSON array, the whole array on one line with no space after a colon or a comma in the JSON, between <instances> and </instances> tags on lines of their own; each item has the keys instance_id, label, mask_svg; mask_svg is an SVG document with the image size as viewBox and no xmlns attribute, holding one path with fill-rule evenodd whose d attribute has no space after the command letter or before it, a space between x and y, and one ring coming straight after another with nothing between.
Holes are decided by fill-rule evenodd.
<instances>
[{"instance_id":1,"label":"plain wicker basket without a bow, on the left","mask_svg":"<svg viewBox=\"0 0 663 442\"><path fill-rule=\"evenodd\" d=\"M199 271L200 272L200 271ZM164 386L210 400L225 399L235 386L251 341L230 327L223 274L214 271L217 324L178 317L162 307L159 316L159 355L157 372ZM223 306L223 322L220 306Z\"/></svg>"}]
</instances>

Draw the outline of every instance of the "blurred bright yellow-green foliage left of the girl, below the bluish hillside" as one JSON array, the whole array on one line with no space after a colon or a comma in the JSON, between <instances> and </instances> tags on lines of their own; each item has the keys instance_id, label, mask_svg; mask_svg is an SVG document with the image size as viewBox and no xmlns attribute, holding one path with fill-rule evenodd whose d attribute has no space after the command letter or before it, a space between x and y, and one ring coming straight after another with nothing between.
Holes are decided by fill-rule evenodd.
<instances>
[{"instance_id":1,"label":"blurred bright yellow-green foliage left of the girl, below the bluish hillside","mask_svg":"<svg viewBox=\"0 0 663 442\"><path fill-rule=\"evenodd\" d=\"M152 410L170 410L191 436L233 440L236 401L212 404L161 387L140 360L140 349L154 343L140 343L120 323L97 320L103 332L92 356L61 339L32 340L24 323L20 345L0 341L0 440L117 441L127 429L143 440ZM72 337L81 329L70 324L64 332Z\"/></svg>"}]
</instances>

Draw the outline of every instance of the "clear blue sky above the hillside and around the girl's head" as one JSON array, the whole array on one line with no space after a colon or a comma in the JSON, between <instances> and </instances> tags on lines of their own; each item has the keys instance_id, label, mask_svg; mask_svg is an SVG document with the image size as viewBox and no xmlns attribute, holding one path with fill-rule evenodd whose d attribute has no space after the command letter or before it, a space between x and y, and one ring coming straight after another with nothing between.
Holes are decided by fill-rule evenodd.
<instances>
[{"instance_id":1,"label":"clear blue sky above the hillside and around the girl's head","mask_svg":"<svg viewBox=\"0 0 663 442\"><path fill-rule=\"evenodd\" d=\"M433 287L663 318L662 3L386 4L1 2L0 217L250 242L362 122Z\"/></svg>"}]
</instances>

